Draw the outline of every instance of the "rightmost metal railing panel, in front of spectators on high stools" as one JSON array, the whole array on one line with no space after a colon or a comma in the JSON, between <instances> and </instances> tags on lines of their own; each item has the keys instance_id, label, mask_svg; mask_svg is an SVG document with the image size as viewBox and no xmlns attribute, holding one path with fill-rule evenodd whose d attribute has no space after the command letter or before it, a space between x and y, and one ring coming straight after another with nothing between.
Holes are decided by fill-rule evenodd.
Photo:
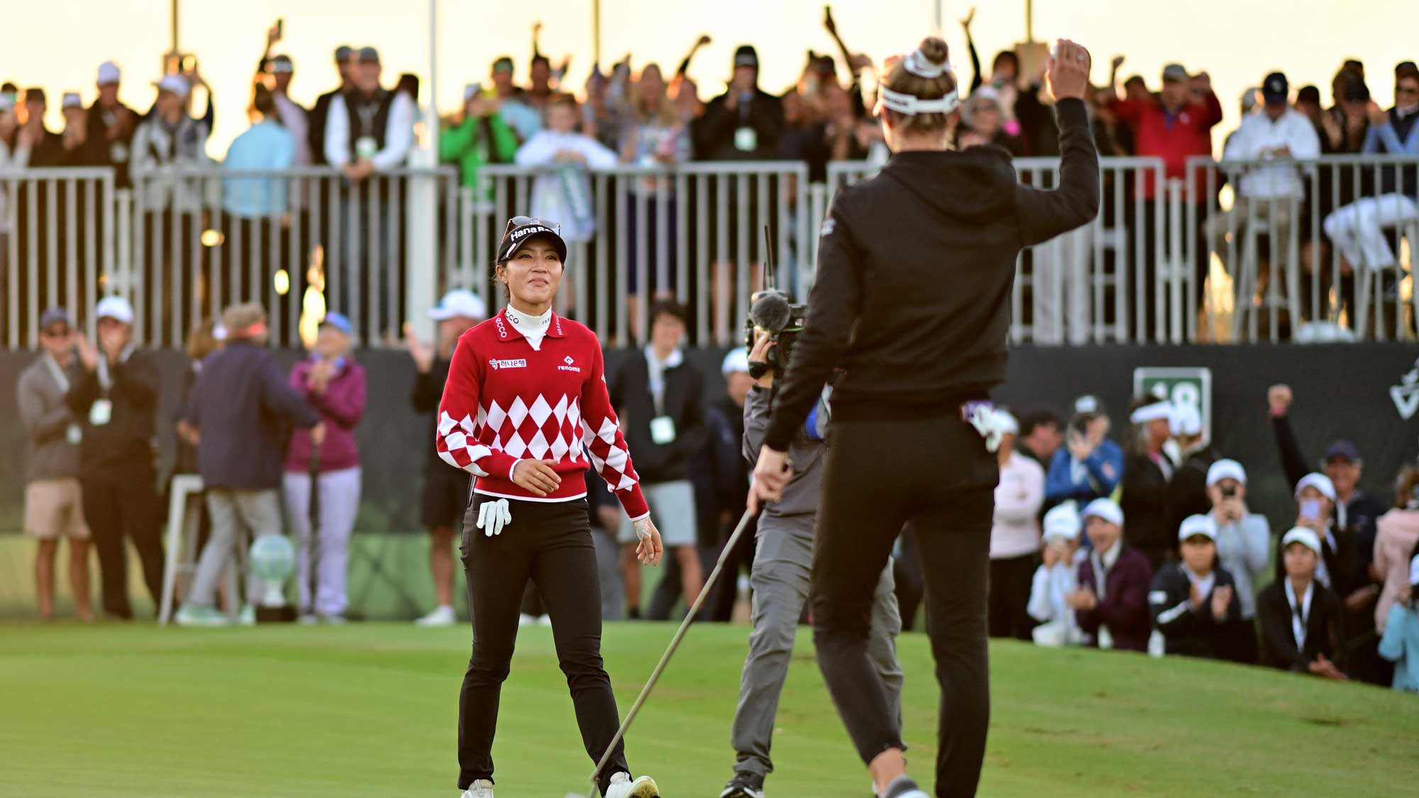
<instances>
[{"instance_id":1,"label":"rightmost metal railing panel, in front of spectators on high stools","mask_svg":"<svg viewBox=\"0 0 1419 798\"><path fill-rule=\"evenodd\" d=\"M1193 158L1182 258L1209 274L1212 341L1412 339L1419 158Z\"/></svg>"}]
</instances>

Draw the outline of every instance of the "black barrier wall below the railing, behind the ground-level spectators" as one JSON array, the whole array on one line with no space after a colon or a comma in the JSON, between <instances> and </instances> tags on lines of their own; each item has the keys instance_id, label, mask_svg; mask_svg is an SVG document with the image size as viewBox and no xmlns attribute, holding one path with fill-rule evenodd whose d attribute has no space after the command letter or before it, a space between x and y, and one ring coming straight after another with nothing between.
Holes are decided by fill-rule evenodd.
<instances>
[{"instance_id":1,"label":"black barrier wall below the railing, behind the ground-level spectators","mask_svg":"<svg viewBox=\"0 0 1419 798\"><path fill-rule=\"evenodd\" d=\"M299 355L278 352L284 365ZM607 371L627 352L607 355ZM707 390L724 389L722 352L697 349L690 362L707 375ZM358 355L369 372L369 409L359 429L365 497L359 531L413 532L419 530L420 487L431 420L409 405L414 366L399 351ZM1222 454L1240 460L1250 476L1254 511L1271 520L1273 531L1294 520L1290 488L1284 484L1267 419L1267 386L1286 382L1296 392L1291 420L1303 452L1318 460L1335 437L1355 442L1365 459L1362 490L1392 501L1395 474L1419 454L1419 346L1364 345L1247 345L1247 346L1091 346L1017 348L1010 355L1007 382L995 399L1017 413L1053 408L1066 415L1073 399L1094 393L1114 417L1115 440L1127 427L1124 410L1139 366L1205 366L1212 369L1213 440ZM31 352L0 352L0 532L21 531L26 439L16 408L14 386L34 359ZM159 466L167 473L173 457L172 426L177 416L180 352L165 352L159 409L162 439ZM634 453L633 453L634 454ZM1318 463L1317 463L1318 467Z\"/></svg>"}]
</instances>

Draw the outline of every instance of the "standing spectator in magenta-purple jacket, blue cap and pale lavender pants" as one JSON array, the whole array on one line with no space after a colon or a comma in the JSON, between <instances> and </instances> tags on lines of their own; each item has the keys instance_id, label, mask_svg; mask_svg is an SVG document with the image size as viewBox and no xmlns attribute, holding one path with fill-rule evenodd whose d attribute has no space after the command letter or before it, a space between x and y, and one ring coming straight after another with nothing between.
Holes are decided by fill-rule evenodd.
<instances>
[{"instance_id":1,"label":"standing spectator in magenta-purple jacket, blue cap and pale lavender pants","mask_svg":"<svg viewBox=\"0 0 1419 798\"><path fill-rule=\"evenodd\" d=\"M291 388L321 413L325 440L297 429L285 459L287 523L297 535L302 618L345 621L345 572L359 511L360 469L355 427L365 415L365 369L349 356L350 322L328 312L311 356L291 366ZM311 474L319 486L315 598L311 598Z\"/></svg>"}]
</instances>

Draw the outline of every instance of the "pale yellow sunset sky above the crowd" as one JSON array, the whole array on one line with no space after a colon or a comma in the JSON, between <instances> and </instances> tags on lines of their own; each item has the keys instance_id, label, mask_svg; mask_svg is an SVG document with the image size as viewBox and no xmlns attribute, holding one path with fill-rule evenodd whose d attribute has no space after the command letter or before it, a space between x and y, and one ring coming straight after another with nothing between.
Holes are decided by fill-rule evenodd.
<instances>
[{"instance_id":1,"label":"pale yellow sunset sky above the crowd","mask_svg":"<svg viewBox=\"0 0 1419 798\"><path fill-rule=\"evenodd\" d=\"M932 0L856 0L833 11L847 44L874 58L911 48L931 31ZM969 80L965 37L956 20L968 4L944 3L945 34L952 60ZM1365 61L1375 98L1388 106L1392 68L1415 58L1409 28L1412 3L1368 0L1361 4L1294 0L1037 0L1036 38L1074 38L1094 54L1094 80L1107 78L1108 58L1128 57L1124 74L1142 74L1155 85L1164 64L1181 61L1189 70L1206 68L1227 118L1220 135L1237 125L1242 91L1257 85L1271 70L1283 70L1294 88L1314 82L1330 104L1330 78L1347 57ZM152 102L150 81L159 77L162 53L169 47L166 0L70 0L64 13L44 4L14 6L0 34L4 53L0 80L21 87L44 85L50 92L51 128L60 128L58 97L81 91L85 104L95 94L99 61L114 60L123 70L122 98L138 109ZM386 84L399 72L424 78L427 104L429 4L426 0L245 0L216 3L186 0L180 16L180 44L197 54L204 77L217 92L217 129L209 145L221 158L227 143L247 126L243 108L245 85L264 44L265 30L277 17L285 20L285 41L277 51L297 64L292 97L309 105L333 85L331 53L336 44L379 47ZM438 4L438 88L441 111L460 102L463 85L484 81L499 54L526 75L531 26L545 23L542 45L553 60L570 53L569 81L580 87L592 64L592 6L587 0L532 0L487 3L441 0ZM604 0L602 3L603 62L634 54L637 68L658 61L673 70L700 33L714 37L692 67L701 97L724 89L734 47L752 43L763 65L763 88L782 91L799 74L805 51L833 50L822 27L823 7L807 0L718 0L670 3L666 0ZM981 3L973 26L981 57L1025 35L1025 3ZM834 51L836 55L836 51Z\"/></svg>"}]
</instances>

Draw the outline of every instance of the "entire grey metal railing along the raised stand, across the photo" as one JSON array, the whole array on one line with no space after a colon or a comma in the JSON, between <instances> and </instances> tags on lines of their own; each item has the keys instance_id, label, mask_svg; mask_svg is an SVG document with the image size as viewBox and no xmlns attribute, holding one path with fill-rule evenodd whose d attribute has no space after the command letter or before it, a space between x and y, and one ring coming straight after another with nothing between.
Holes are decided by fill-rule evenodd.
<instances>
[{"instance_id":1,"label":"entire grey metal railing along the raised stand, across the photo","mask_svg":"<svg viewBox=\"0 0 1419 798\"><path fill-rule=\"evenodd\" d=\"M834 162L826 183L809 185L799 162L487 166L477 189L453 168L362 183L329 169L206 168L135 175L125 190L108 169L0 173L0 345L34 346L50 305L91 328L87 308L114 293L132 300L149 345L179 346L237 301L268 308L278 345L298 345L325 308L346 312L362 345L387 345L447 288L501 304L502 224L539 213L570 243L559 310L603 341L641 339L650 302L668 295L690 308L692 344L731 345L766 256L806 298L833 195L876 169ZM1195 158L1188 169L1196 179L1185 185L1159 159L1103 159L1098 217L1020 254L1010 339L1415 335L1419 158ZM1059 162L1017 159L1016 172L1053 187Z\"/></svg>"}]
</instances>

